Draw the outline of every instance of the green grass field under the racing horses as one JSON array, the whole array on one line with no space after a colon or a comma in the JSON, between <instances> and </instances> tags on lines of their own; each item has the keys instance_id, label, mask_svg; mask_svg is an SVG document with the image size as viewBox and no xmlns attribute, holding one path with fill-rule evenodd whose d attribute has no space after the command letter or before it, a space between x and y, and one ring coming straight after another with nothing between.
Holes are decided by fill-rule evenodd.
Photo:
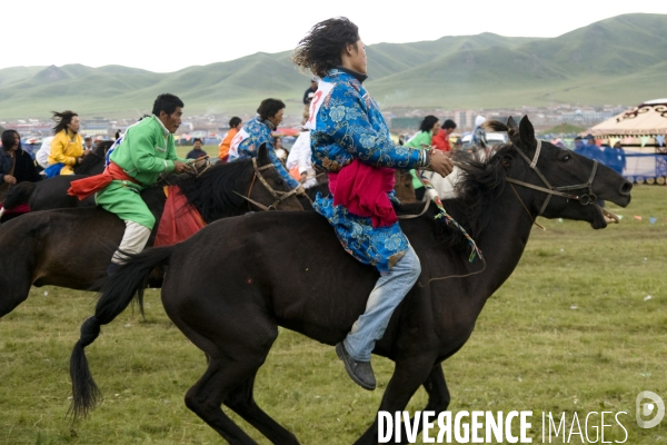
<instances>
[{"instance_id":1,"label":"green grass field under the racing horses","mask_svg":"<svg viewBox=\"0 0 667 445\"><path fill-rule=\"evenodd\" d=\"M667 419L651 429L635 422L640 390L667 398L667 188L638 186L627 209L610 209L624 218L605 230L558 220L534 229L468 344L444 363L452 412L532 411L530 436L542 443L542 412L567 413L569 432L575 412L584 424L588 412L624 411L626 444L667 443ZM33 288L0 319L0 444L222 443L183 404L206 368L203 354L165 315L159 290L147 294L146 322L128 309L87 349L104 400L76 425L66 418L69 356L94 295ZM369 393L348 378L332 347L281 330L256 398L303 444L350 444L372 421L391 375L390 362L376 357L374 366L379 387ZM425 404L420 390L408 408ZM623 442L614 418L606 424L615 426L605 441ZM594 441L593 425L588 431Z\"/></svg>"}]
</instances>

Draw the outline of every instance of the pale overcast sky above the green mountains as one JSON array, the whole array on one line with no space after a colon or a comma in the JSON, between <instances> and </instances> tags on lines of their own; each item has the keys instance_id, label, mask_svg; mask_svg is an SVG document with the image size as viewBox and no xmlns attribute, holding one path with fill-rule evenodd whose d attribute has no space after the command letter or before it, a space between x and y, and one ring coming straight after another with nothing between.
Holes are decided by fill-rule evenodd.
<instances>
[{"instance_id":1,"label":"pale overcast sky above the green mountains","mask_svg":"<svg viewBox=\"0 0 667 445\"><path fill-rule=\"evenodd\" d=\"M667 13L667 0L7 0L0 11L0 68L82 63L169 72L292 50L312 24L337 16L357 23L367 44L480 32L557 37L624 13Z\"/></svg>"}]
</instances>

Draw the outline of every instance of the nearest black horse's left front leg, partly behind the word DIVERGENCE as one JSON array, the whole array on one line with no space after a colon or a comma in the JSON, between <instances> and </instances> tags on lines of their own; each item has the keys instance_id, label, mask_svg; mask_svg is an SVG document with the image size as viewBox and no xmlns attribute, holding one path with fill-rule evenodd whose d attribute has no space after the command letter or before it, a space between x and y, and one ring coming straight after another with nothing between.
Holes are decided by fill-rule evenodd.
<instances>
[{"instance_id":1,"label":"nearest black horse's left front leg, partly behind the word DIVERGENCE","mask_svg":"<svg viewBox=\"0 0 667 445\"><path fill-rule=\"evenodd\" d=\"M435 359L427 356L410 357L396 362L394 375L387 385L379 411L394 413L404 411L421 384L431 376ZM430 397L429 397L430 402ZM401 439L406 439L405 427ZM375 445L378 443L378 416L372 425L355 442L355 445Z\"/></svg>"}]
</instances>

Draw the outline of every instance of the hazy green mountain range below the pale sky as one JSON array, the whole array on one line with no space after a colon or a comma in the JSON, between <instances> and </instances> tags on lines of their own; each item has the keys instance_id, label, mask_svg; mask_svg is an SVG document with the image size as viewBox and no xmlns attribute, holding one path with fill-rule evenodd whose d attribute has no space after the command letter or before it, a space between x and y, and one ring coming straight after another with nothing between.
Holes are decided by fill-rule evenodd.
<instances>
[{"instance_id":1,"label":"hazy green mountain range below the pale sky","mask_svg":"<svg viewBox=\"0 0 667 445\"><path fill-rule=\"evenodd\" d=\"M542 18L548 26L548 18ZM667 14L618 16L556 38L494 33L367 47L365 86L384 109L625 105L667 96ZM133 116L172 92L186 112L253 111L281 98L299 115L308 77L291 51L158 73L121 66L0 69L0 119Z\"/></svg>"}]
</instances>

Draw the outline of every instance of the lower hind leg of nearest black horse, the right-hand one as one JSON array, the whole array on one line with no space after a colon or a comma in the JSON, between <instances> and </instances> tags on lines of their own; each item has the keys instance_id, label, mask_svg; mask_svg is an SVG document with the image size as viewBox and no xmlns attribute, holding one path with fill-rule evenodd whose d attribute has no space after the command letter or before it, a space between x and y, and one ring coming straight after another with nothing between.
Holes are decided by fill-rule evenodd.
<instances>
[{"instance_id":1,"label":"lower hind leg of nearest black horse, the right-hand one","mask_svg":"<svg viewBox=\"0 0 667 445\"><path fill-rule=\"evenodd\" d=\"M255 402L255 375L237 386L229 393L225 405L233 409L250 425L255 426L261 434L275 444L298 444L297 437L273 421Z\"/></svg>"}]
</instances>

